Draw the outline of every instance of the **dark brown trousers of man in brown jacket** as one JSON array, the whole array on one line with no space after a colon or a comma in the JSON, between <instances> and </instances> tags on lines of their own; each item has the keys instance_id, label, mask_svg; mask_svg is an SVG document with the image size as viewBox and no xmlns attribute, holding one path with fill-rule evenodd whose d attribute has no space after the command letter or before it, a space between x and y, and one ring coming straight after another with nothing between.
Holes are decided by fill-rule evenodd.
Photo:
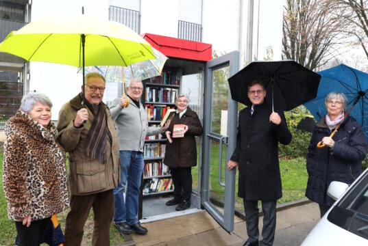
<instances>
[{"instance_id":1,"label":"dark brown trousers of man in brown jacket","mask_svg":"<svg viewBox=\"0 0 368 246\"><path fill-rule=\"evenodd\" d=\"M84 223L93 208L92 245L110 245L110 225L114 217L113 190L91 195L71 195L71 211L66 216L65 245L81 245Z\"/></svg>"}]
</instances>

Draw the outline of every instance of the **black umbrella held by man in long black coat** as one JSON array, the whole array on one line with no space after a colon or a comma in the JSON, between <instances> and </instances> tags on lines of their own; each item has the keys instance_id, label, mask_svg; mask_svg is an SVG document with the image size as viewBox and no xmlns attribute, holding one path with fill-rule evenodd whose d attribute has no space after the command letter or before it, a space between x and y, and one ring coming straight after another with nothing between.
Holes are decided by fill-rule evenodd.
<instances>
[{"instance_id":1,"label":"black umbrella held by man in long black coat","mask_svg":"<svg viewBox=\"0 0 368 246\"><path fill-rule=\"evenodd\" d=\"M272 109L289 111L317 96L321 75L292 60L253 61L228 79L232 99L251 106L248 86L262 81Z\"/></svg>"}]
</instances>

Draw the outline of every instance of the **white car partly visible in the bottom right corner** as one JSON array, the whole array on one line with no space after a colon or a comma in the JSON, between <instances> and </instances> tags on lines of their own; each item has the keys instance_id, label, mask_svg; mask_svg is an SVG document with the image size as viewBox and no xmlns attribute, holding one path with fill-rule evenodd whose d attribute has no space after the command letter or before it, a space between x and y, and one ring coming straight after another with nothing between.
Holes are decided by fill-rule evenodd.
<instances>
[{"instance_id":1,"label":"white car partly visible in the bottom right corner","mask_svg":"<svg viewBox=\"0 0 368 246\"><path fill-rule=\"evenodd\" d=\"M348 187L331 182L336 202L304 239L302 246L368 245L368 169Z\"/></svg>"}]
</instances>

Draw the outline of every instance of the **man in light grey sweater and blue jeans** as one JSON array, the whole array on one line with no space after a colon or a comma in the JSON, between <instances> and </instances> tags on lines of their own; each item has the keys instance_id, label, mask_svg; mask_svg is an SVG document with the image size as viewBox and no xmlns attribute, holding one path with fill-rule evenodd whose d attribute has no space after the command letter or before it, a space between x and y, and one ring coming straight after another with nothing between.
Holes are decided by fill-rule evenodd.
<instances>
[{"instance_id":1,"label":"man in light grey sweater and blue jeans","mask_svg":"<svg viewBox=\"0 0 368 246\"><path fill-rule=\"evenodd\" d=\"M140 226L137 218L140 178L145 166L145 137L163 133L170 124L167 122L161 128L148 126L147 113L139 101L142 92L142 82L133 80L127 87L127 96L116 98L110 107L111 118L116 122L118 130L121 165L121 181L114 189L114 226L122 234L147 233L147 228Z\"/></svg>"}]
</instances>

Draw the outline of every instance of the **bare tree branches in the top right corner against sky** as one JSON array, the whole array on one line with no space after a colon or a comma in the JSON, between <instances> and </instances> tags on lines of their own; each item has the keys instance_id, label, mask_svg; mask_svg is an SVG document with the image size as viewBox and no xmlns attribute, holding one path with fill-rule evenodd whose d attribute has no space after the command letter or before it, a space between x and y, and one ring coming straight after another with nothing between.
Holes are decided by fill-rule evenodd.
<instances>
[{"instance_id":1,"label":"bare tree branches in the top right corner against sky","mask_svg":"<svg viewBox=\"0 0 368 246\"><path fill-rule=\"evenodd\" d=\"M355 44L362 46L368 58L368 0L334 0L335 9L343 9L344 21L349 23L345 33L355 37Z\"/></svg>"}]
</instances>

